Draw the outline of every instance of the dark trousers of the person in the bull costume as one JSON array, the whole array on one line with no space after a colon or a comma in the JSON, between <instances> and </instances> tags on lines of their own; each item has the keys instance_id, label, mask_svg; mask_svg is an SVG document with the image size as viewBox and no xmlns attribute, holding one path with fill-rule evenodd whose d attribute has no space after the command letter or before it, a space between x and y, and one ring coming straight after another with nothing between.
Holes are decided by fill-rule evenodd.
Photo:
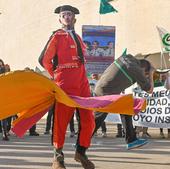
<instances>
[{"instance_id":1,"label":"dark trousers of the person in the bull costume","mask_svg":"<svg viewBox=\"0 0 170 169\"><path fill-rule=\"evenodd\" d=\"M120 116L122 120L123 129L125 131L125 141L127 144L131 143L137 139L136 132L132 123L132 116L129 115L120 115ZM96 128L94 132L96 132L99 129L99 127L102 125L106 117L107 117L107 113L101 113L101 112L95 113Z\"/></svg>"}]
</instances>

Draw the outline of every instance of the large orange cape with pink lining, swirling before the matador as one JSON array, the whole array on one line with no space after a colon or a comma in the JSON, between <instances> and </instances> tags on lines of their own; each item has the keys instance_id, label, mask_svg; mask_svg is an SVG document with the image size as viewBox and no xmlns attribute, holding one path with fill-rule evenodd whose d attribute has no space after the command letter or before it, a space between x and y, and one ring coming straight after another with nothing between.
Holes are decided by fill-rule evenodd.
<instances>
[{"instance_id":1,"label":"large orange cape with pink lining, swirling before the matador","mask_svg":"<svg viewBox=\"0 0 170 169\"><path fill-rule=\"evenodd\" d=\"M17 114L14 128L16 126L17 130L20 130L24 127L22 125L26 125L20 136L36 123L55 101L70 107L128 115L134 115L146 107L145 100L134 99L131 94L87 98L69 96L53 81L32 71L14 71L1 75L0 93L0 120Z\"/></svg>"}]
</instances>

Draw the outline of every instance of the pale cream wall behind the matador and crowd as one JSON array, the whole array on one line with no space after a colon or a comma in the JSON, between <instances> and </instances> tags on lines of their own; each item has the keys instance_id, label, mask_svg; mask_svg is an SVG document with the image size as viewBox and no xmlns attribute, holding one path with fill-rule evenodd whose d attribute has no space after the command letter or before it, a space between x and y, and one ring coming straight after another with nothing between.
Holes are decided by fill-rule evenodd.
<instances>
[{"instance_id":1,"label":"pale cream wall behind the matador and crowd","mask_svg":"<svg viewBox=\"0 0 170 169\"><path fill-rule=\"evenodd\" d=\"M0 0L0 58L13 70L39 66L48 37L60 28L53 11L68 2L80 9L80 35L82 25L116 26L116 57L124 48L132 54L159 52L156 25L170 32L170 0L116 0L111 4L119 12L106 15L99 15L99 0Z\"/></svg>"}]
</instances>

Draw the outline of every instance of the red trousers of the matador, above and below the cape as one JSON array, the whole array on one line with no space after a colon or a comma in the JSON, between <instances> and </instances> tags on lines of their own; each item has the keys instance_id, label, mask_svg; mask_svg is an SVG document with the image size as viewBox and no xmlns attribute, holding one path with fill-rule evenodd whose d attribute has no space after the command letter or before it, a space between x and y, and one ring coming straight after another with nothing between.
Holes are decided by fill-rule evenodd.
<instances>
[{"instance_id":1,"label":"red trousers of the matador, above and below the cape","mask_svg":"<svg viewBox=\"0 0 170 169\"><path fill-rule=\"evenodd\" d=\"M73 71L73 72L71 72ZM65 81L63 78L64 74ZM66 69L62 74L58 71L56 83L70 95L89 97L90 89L86 78L84 67L76 69ZM67 76L67 77L66 77ZM61 103L56 103L53 124L53 145L62 148L65 141L67 126L74 114L75 108L68 107ZM78 143L80 146L88 148L95 128L94 114L91 110L79 109L80 131Z\"/></svg>"}]
</instances>

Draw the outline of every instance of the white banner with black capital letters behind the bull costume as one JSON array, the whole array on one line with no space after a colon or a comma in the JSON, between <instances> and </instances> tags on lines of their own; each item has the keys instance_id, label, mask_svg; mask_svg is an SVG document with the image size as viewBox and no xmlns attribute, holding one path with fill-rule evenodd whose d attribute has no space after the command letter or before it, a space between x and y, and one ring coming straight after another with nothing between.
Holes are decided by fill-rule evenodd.
<instances>
[{"instance_id":1,"label":"white banner with black capital letters behind the bull costume","mask_svg":"<svg viewBox=\"0 0 170 169\"><path fill-rule=\"evenodd\" d=\"M138 115L133 116L134 126L170 128L170 90L163 86L155 87L152 94L134 89L134 97L145 97L147 107ZM118 114L109 114L106 122L121 123Z\"/></svg>"}]
</instances>

